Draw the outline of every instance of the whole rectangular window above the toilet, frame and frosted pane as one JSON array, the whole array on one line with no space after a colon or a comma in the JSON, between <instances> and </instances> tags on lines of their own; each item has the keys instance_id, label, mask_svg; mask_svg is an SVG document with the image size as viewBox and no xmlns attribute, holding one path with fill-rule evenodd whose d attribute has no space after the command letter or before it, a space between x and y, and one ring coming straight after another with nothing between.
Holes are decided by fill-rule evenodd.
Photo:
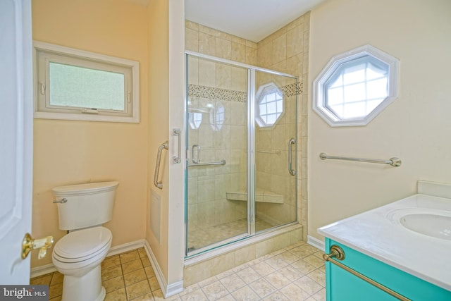
<instances>
[{"instance_id":1,"label":"whole rectangular window above the toilet, frame and frosted pane","mask_svg":"<svg viewBox=\"0 0 451 301\"><path fill-rule=\"evenodd\" d=\"M35 118L140 122L139 63L34 42Z\"/></svg>"}]
</instances>

